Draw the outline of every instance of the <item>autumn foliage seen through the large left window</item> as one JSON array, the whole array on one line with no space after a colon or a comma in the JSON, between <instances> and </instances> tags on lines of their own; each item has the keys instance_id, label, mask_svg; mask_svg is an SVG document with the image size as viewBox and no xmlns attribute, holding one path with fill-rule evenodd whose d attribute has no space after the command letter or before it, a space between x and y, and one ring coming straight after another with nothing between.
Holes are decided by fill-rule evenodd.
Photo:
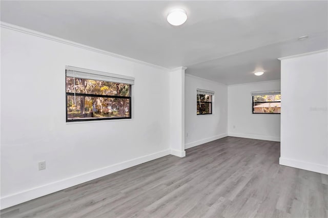
<instances>
[{"instance_id":1,"label":"autumn foliage seen through the large left window","mask_svg":"<svg viewBox=\"0 0 328 218\"><path fill-rule=\"evenodd\" d=\"M66 76L66 120L131 118L131 85Z\"/></svg>"}]
</instances>

